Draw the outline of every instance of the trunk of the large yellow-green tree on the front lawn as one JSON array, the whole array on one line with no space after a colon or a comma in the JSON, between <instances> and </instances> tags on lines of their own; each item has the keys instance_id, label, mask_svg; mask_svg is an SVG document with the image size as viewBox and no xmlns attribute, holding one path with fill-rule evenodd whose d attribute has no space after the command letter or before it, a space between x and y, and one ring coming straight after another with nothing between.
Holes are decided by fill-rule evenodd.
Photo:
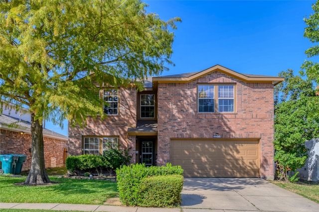
<instances>
[{"instance_id":1,"label":"trunk of the large yellow-green tree on the front lawn","mask_svg":"<svg viewBox=\"0 0 319 212\"><path fill-rule=\"evenodd\" d=\"M39 120L34 120L34 112L31 112L31 169L24 185L44 185L51 183L45 172L43 127Z\"/></svg>"}]
</instances>

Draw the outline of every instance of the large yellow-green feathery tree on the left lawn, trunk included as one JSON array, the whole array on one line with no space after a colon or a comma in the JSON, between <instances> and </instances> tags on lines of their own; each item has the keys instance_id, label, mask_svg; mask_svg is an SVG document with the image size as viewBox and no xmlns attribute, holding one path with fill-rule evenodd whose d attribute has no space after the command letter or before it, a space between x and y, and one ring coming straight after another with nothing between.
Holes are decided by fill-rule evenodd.
<instances>
[{"instance_id":1,"label":"large yellow-green feathery tree on the left lawn, trunk included","mask_svg":"<svg viewBox=\"0 0 319 212\"><path fill-rule=\"evenodd\" d=\"M31 114L26 185L50 183L42 122L103 118L100 86L140 85L167 69L179 18L163 21L140 0L0 0L0 98ZM10 104L9 104L10 103ZM2 108L2 107L1 107Z\"/></svg>"}]
</instances>

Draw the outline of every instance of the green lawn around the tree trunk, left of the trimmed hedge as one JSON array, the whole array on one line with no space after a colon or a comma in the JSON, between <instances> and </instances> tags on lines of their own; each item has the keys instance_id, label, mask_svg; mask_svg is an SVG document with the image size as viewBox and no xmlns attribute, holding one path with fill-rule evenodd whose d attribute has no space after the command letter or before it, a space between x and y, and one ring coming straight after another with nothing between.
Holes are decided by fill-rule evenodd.
<instances>
[{"instance_id":1,"label":"green lawn around the tree trunk, left of the trimmed hedge","mask_svg":"<svg viewBox=\"0 0 319 212\"><path fill-rule=\"evenodd\" d=\"M47 186L16 186L26 176L0 176L0 202L4 203L66 203L103 205L118 196L117 184L107 180L79 180L49 177L57 184Z\"/></svg>"}]
</instances>

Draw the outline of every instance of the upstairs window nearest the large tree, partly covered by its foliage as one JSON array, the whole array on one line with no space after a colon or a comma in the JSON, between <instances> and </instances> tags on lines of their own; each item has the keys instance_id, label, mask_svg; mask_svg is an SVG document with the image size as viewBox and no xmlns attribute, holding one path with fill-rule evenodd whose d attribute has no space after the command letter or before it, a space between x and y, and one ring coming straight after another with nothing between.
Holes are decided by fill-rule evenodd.
<instances>
[{"instance_id":1,"label":"upstairs window nearest the large tree, partly covered by its foliage","mask_svg":"<svg viewBox=\"0 0 319 212\"><path fill-rule=\"evenodd\" d=\"M104 101L108 105L104 106L104 112L108 115L117 115L119 114L119 95L118 89L107 89L103 90Z\"/></svg>"}]
</instances>

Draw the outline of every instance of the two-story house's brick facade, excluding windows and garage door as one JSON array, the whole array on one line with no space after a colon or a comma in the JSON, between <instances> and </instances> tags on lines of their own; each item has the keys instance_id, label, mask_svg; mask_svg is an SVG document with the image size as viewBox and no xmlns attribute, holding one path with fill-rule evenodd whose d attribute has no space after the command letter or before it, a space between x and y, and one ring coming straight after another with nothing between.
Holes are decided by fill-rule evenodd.
<instances>
[{"instance_id":1,"label":"two-story house's brick facade, excluding windows and garage door","mask_svg":"<svg viewBox=\"0 0 319 212\"><path fill-rule=\"evenodd\" d=\"M171 138L213 138L259 140L261 177L274 178L274 84L283 78L241 75L216 65L197 73L153 78L149 92L157 96L157 134L155 154L157 165L170 162ZM235 86L234 112L197 112L198 84L231 84ZM130 148L131 162L139 162L141 140L150 134L137 127L139 94L134 87L119 90L119 114L106 119L87 118L83 129L69 126L69 154L80 155L85 136L118 136L124 147ZM128 128L136 127L130 134ZM150 131L151 132L151 131Z\"/></svg>"}]
</instances>

